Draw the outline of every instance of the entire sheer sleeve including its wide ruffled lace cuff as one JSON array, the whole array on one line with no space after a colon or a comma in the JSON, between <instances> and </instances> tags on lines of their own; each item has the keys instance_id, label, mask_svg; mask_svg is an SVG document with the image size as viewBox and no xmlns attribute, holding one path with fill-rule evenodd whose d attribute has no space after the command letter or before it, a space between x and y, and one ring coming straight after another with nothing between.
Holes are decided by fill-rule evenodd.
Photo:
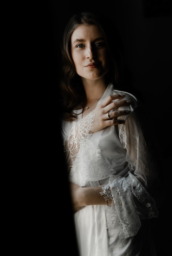
<instances>
[{"instance_id":1,"label":"entire sheer sleeve including its wide ruffled lace cuff","mask_svg":"<svg viewBox=\"0 0 172 256\"><path fill-rule=\"evenodd\" d=\"M130 171L127 177L111 175L101 194L113 199L109 228L113 226L113 218L118 218L120 238L124 240L137 234L142 219L158 216L155 201L148 192L156 180L156 169L135 113L118 128Z\"/></svg>"}]
</instances>

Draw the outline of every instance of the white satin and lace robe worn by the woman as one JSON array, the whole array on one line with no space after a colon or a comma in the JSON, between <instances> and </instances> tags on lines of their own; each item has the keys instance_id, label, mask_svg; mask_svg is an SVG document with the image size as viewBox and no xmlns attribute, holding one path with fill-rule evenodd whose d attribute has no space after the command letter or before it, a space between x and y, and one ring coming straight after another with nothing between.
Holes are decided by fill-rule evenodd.
<instances>
[{"instance_id":1,"label":"white satin and lace robe worn by the woman","mask_svg":"<svg viewBox=\"0 0 172 256\"><path fill-rule=\"evenodd\" d=\"M158 216L146 190L155 173L135 119L137 99L109 84L98 104L110 94L125 94L124 99L132 101L125 107L131 114L124 124L90 133L93 112L83 119L79 114L76 121L62 122L70 181L79 186L102 186L105 200L113 199L111 206L90 205L74 213L78 249L80 256L147 256L142 252L140 232L142 220Z\"/></svg>"}]
</instances>

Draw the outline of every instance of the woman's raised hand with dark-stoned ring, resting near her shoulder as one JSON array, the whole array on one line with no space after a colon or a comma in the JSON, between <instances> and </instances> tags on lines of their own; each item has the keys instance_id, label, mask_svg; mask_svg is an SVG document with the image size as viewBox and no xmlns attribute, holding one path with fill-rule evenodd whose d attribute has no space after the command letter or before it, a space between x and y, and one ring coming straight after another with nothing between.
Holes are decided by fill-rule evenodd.
<instances>
[{"instance_id":1,"label":"woman's raised hand with dark-stoned ring, resting near her shoulder","mask_svg":"<svg viewBox=\"0 0 172 256\"><path fill-rule=\"evenodd\" d=\"M93 110L95 115L94 127L90 132L97 132L107 126L124 124L125 120L119 120L118 117L131 113L130 110L118 110L119 107L129 106L131 103L130 100L124 100L124 97L125 95L120 94L109 95L100 105L96 106ZM118 99L118 101L113 101L115 99Z\"/></svg>"}]
</instances>

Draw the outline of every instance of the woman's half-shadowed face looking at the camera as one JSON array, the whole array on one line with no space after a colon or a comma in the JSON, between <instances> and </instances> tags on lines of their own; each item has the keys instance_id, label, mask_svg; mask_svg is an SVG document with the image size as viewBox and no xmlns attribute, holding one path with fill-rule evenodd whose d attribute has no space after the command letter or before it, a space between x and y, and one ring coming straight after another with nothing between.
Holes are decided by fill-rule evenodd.
<instances>
[{"instance_id":1,"label":"woman's half-shadowed face looking at the camera","mask_svg":"<svg viewBox=\"0 0 172 256\"><path fill-rule=\"evenodd\" d=\"M71 36L71 52L76 73L96 80L109 71L108 47L96 25L79 25Z\"/></svg>"}]
</instances>

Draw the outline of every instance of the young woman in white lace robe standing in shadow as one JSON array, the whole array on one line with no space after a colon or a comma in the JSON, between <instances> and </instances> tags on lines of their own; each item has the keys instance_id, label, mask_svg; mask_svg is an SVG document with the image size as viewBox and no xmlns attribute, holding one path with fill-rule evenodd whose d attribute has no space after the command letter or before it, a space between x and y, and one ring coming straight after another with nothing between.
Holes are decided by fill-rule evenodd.
<instances>
[{"instance_id":1,"label":"young woman in white lace robe standing in shadow","mask_svg":"<svg viewBox=\"0 0 172 256\"><path fill-rule=\"evenodd\" d=\"M61 45L61 123L80 256L149 256L146 219L158 216L157 170L137 117L119 90L112 24L73 15Z\"/></svg>"}]
</instances>

